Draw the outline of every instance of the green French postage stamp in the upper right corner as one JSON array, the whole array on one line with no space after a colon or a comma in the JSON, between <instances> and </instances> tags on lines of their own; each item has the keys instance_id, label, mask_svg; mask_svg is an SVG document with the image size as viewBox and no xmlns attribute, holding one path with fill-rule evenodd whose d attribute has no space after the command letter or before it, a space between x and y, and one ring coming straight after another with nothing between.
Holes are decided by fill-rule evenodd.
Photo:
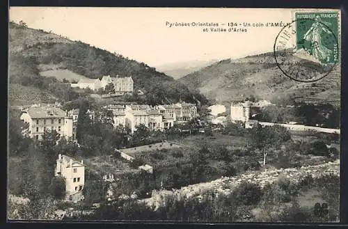
<instances>
[{"instance_id":1,"label":"green French postage stamp in the upper right corner","mask_svg":"<svg viewBox=\"0 0 348 229\"><path fill-rule=\"evenodd\" d=\"M338 63L338 17L338 12L295 13L296 49L322 64Z\"/></svg>"}]
</instances>

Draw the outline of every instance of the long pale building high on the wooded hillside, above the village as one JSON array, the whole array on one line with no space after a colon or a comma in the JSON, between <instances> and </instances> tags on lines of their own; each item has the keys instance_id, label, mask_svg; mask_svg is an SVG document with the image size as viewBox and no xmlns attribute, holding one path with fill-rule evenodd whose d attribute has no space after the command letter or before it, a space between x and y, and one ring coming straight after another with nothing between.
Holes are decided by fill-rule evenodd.
<instances>
[{"instance_id":1,"label":"long pale building high on the wooded hillside, above the village","mask_svg":"<svg viewBox=\"0 0 348 229\"><path fill-rule=\"evenodd\" d=\"M90 88L98 90L106 87L108 84L113 84L116 93L132 93L134 90L134 81L132 77L110 77L103 76L102 79L81 79L78 83L71 84L72 88Z\"/></svg>"}]
</instances>

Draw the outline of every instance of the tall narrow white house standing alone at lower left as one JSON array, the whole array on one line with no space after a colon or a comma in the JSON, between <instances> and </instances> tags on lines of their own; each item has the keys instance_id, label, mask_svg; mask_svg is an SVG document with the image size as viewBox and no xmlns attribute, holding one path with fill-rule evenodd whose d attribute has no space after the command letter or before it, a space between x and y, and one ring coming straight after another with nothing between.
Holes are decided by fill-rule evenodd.
<instances>
[{"instance_id":1,"label":"tall narrow white house standing alone at lower left","mask_svg":"<svg viewBox=\"0 0 348 229\"><path fill-rule=\"evenodd\" d=\"M77 202L84 199L84 161L76 161L72 157L59 154L54 175L65 179L65 200Z\"/></svg>"}]
</instances>

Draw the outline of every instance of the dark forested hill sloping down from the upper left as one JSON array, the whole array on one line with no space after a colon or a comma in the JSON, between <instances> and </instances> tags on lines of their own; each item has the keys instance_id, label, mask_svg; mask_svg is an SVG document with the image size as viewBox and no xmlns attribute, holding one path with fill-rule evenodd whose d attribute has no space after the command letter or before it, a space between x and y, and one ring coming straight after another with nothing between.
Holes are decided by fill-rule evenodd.
<instances>
[{"instance_id":1,"label":"dark forested hill sloping down from the upper left","mask_svg":"<svg viewBox=\"0 0 348 229\"><path fill-rule=\"evenodd\" d=\"M40 76L40 72L47 70L70 70L93 79L118 74L132 76L134 88L143 90L145 95L155 98L158 103L167 100L177 102L180 98L186 102L206 102L198 90L189 90L181 82L145 63L60 35L29 29L24 23L10 22L9 52L10 84L49 89L56 79L50 78L47 82L47 78ZM65 89L71 90L68 87Z\"/></svg>"}]
</instances>

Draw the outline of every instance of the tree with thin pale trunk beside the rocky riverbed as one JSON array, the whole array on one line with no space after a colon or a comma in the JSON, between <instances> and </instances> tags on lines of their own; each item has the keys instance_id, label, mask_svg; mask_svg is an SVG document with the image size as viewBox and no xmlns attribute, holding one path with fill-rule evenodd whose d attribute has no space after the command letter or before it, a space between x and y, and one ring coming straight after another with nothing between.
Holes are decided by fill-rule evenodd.
<instances>
[{"instance_id":1,"label":"tree with thin pale trunk beside the rocky riverbed","mask_svg":"<svg viewBox=\"0 0 348 229\"><path fill-rule=\"evenodd\" d=\"M263 156L263 165L266 165L266 157L271 148L279 148L285 141L291 139L289 131L285 127L278 125L262 127L253 127L251 129L253 147L261 150Z\"/></svg>"}]
</instances>

